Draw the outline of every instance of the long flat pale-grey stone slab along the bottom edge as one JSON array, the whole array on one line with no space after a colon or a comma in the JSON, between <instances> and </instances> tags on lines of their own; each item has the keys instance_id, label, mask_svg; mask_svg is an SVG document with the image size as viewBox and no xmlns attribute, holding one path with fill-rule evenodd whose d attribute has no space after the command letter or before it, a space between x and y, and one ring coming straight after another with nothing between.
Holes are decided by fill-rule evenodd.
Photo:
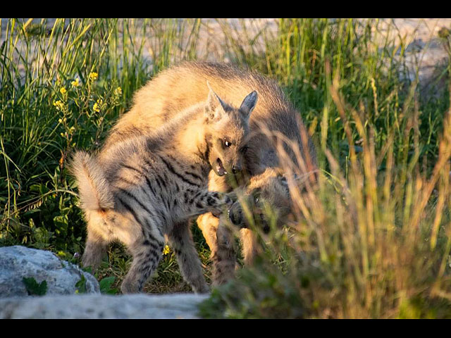
<instances>
[{"instance_id":1,"label":"long flat pale-grey stone slab along the bottom edge","mask_svg":"<svg viewBox=\"0 0 451 338\"><path fill-rule=\"evenodd\" d=\"M0 319L194 319L206 294L75 294L0 299Z\"/></svg>"}]
</instances>

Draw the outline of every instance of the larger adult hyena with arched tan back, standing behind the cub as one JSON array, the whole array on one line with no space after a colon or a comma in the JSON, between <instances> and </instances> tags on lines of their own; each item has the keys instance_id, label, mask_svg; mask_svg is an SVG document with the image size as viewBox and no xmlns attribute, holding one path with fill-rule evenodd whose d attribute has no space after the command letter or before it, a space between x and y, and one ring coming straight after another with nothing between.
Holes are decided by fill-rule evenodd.
<instances>
[{"instance_id":1,"label":"larger adult hyena with arched tan back, standing behind the cub","mask_svg":"<svg viewBox=\"0 0 451 338\"><path fill-rule=\"evenodd\" d=\"M206 95L206 80L221 97L232 104L238 104L243 94L250 90L259 92L259 104L249 120L249 142L244 149L242 171L250 176L250 180L245 183L244 192L252 200L256 218L264 220L261 206L269 203L273 206L278 221L283 223L291 210L290 193L274 137L268 137L268 132L282 135L295 144L297 149L285 146L285 151L291 161L297 163L296 154L300 154L305 161L305 165L299 166L302 169L301 175L315 171L316 152L299 112L276 82L259 73L233 65L204 62L182 63L163 70L135 94L132 108L111 130L106 140L106 149L132 135L152 132L157 126L176 118L183 108L202 101ZM230 192L233 187L231 182L234 181L230 178L231 175L221 176L211 172L209 189ZM259 195L258 198L254 198L256 194ZM246 227L240 204L235 203L230 209L230 218L235 224ZM213 282L221 284L232 277L235 270L233 246L218 244L218 218L211 213L199 216L197 224L211 249ZM256 253L256 237L247 229L240 232L244 261L250 264ZM228 243L233 243L233 240Z\"/></svg>"}]
</instances>

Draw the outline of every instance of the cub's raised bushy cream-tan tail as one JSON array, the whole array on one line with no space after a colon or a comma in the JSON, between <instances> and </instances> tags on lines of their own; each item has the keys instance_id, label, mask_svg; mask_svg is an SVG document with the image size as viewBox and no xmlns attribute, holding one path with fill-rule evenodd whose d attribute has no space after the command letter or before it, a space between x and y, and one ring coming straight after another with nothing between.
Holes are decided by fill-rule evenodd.
<instances>
[{"instance_id":1,"label":"cub's raised bushy cream-tan tail","mask_svg":"<svg viewBox=\"0 0 451 338\"><path fill-rule=\"evenodd\" d=\"M114 198L104 172L85 151L77 151L70 169L78 183L82 209L85 211L114 208Z\"/></svg>"}]
</instances>

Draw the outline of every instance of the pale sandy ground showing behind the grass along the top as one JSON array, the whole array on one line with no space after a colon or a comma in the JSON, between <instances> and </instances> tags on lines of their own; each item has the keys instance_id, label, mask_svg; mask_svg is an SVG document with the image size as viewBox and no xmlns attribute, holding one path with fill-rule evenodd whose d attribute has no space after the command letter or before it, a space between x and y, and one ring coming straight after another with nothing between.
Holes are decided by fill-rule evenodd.
<instances>
[{"instance_id":1,"label":"pale sandy ground showing behind the grass along the top","mask_svg":"<svg viewBox=\"0 0 451 338\"><path fill-rule=\"evenodd\" d=\"M28 19L21 19L24 22ZM47 26L51 27L55 19L47 20ZM126 19L125 19L126 20ZM180 22L183 19L180 19ZM235 39L243 42L243 46L248 45L249 38L257 37L264 28L266 34L271 35L277 32L278 19L202 19L202 25L197 44L198 54L209 60L226 59L226 39L224 31L232 35ZM361 18L359 20L367 20ZM33 22L39 23L40 19ZM3 43L8 19L0 19L0 44ZM388 32L390 23L395 24L395 30ZM415 76L415 69L419 69L419 79L422 86L427 86L433 82L437 76L437 67L444 64L447 58L443 44L438 39L438 31L442 27L451 28L451 18L382 18L379 28L381 28L383 41L386 34L395 41L401 40L407 44L406 55L409 68L412 69L411 78ZM152 44L152 37L144 37ZM260 36L261 39L261 36ZM254 50L263 51L264 46L259 45L257 37Z\"/></svg>"}]
</instances>

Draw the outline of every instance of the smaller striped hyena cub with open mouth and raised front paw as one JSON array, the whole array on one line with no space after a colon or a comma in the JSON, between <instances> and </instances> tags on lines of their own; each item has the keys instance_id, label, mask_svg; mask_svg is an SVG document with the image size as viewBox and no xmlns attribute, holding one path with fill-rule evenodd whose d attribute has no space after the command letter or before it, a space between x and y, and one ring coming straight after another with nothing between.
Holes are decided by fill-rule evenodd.
<instances>
[{"instance_id":1,"label":"smaller striped hyena cub with open mouth and raised front paw","mask_svg":"<svg viewBox=\"0 0 451 338\"><path fill-rule=\"evenodd\" d=\"M166 237L194 292L208 292L187 220L232 204L226 194L208 191L208 174L240 166L255 104L255 91L233 108L210 89L206 104L152 134L128 137L97 157L78 151L72 170L87 220L82 264L97 268L107 244L121 241L133 257L121 292L141 292Z\"/></svg>"}]
</instances>

